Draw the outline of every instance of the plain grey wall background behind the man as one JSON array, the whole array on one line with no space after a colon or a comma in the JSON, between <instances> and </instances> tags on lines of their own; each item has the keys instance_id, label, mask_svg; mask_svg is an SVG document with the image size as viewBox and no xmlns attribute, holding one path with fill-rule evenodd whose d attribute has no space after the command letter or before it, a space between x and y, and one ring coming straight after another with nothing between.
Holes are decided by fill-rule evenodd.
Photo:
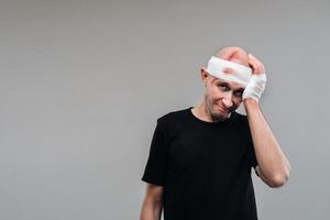
<instances>
[{"instance_id":1,"label":"plain grey wall background behind the man","mask_svg":"<svg viewBox=\"0 0 330 220\"><path fill-rule=\"evenodd\" d=\"M139 219L156 119L226 45L264 63L292 164L283 188L253 174L260 219L329 219L326 0L0 2L1 220Z\"/></svg>"}]
</instances>

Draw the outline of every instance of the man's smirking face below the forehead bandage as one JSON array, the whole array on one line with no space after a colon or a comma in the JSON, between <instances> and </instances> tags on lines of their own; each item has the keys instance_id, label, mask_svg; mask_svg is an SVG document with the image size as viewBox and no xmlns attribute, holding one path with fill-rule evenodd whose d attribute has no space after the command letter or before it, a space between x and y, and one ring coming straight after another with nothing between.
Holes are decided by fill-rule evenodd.
<instances>
[{"instance_id":1,"label":"man's smirking face below the forehead bandage","mask_svg":"<svg viewBox=\"0 0 330 220\"><path fill-rule=\"evenodd\" d=\"M211 118L227 119L229 113L240 107L243 91L244 87L240 84L218 79L207 74L205 99Z\"/></svg>"}]
</instances>

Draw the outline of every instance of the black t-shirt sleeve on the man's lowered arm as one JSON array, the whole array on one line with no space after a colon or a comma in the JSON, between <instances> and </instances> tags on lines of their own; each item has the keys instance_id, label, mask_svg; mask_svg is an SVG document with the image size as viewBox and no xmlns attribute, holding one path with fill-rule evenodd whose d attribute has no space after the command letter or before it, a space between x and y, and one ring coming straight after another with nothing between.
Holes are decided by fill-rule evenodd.
<instances>
[{"instance_id":1,"label":"black t-shirt sleeve on the man's lowered arm","mask_svg":"<svg viewBox=\"0 0 330 220\"><path fill-rule=\"evenodd\" d=\"M165 185L167 170L167 132L164 121L157 120L152 138L143 182L160 186Z\"/></svg>"}]
</instances>

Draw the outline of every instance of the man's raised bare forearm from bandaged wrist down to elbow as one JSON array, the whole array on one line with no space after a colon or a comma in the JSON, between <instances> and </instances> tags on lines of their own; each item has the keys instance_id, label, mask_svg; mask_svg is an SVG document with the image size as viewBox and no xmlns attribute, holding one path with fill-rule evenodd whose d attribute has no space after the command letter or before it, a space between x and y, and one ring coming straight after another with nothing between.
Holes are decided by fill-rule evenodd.
<instances>
[{"instance_id":1,"label":"man's raised bare forearm from bandaged wrist down to elbow","mask_svg":"<svg viewBox=\"0 0 330 220\"><path fill-rule=\"evenodd\" d=\"M244 107L258 164L256 172L270 187L280 187L288 180L289 162L262 114L258 102L245 99Z\"/></svg>"}]
</instances>

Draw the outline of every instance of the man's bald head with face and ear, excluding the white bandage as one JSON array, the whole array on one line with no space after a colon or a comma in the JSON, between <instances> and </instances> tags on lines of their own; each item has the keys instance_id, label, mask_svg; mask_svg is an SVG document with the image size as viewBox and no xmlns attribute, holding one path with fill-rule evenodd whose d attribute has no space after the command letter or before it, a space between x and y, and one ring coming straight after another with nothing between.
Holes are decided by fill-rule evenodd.
<instances>
[{"instance_id":1,"label":"man's bald head with face and ear, excluding the white bandage","mask_svg":"<svg viewBox=\"0 0 330 220\"><path fill-rule=\"evenodd\" d=\"M219 50L213 56L249 66L248 53L238 47L229 46ZM226 69L224 73L231 74L233 69ZM222 120L237 110L242 102L244 86L238 82L223 80L211 76L206 68L200 69L201 79L205 84L205 105L216 120Z\"/></svg>"}]
</instances>

